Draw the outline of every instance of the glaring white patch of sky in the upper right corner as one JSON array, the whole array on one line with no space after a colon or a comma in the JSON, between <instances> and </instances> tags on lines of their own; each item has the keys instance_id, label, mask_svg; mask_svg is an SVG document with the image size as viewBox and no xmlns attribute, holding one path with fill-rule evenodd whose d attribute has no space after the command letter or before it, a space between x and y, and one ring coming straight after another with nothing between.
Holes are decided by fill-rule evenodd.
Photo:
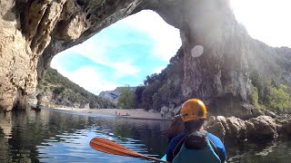
<instances>
[{"instance_id":1,"label":"glaring white patch of sky in the upper right corner","mask_svg":"<svg viewBox=\"0 0 291 163\"><path fill-rule=\"evenodd\" d=\"M291 47L290 0L230 0L248 34L271 46Z\"/></svg>"}]
</instances>

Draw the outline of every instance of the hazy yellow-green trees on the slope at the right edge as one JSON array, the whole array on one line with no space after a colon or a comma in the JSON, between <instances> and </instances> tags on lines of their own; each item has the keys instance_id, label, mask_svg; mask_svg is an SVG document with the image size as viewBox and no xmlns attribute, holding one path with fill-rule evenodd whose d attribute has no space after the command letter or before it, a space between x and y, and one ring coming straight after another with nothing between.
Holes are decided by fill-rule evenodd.
<instances>
[{"instance_id":1,"label":"hazy yellow-green trees on the slope at the right edge","mask_svg":"<svg viewBox=\"0 0 291 163\"><path fill-rule=\"evenodd\" d=\"M261 56L265 62L256 59L250 66L251 104L267 110L291 109L291 49L275 48L275 53Z\"/></svg>"}]
</instances>

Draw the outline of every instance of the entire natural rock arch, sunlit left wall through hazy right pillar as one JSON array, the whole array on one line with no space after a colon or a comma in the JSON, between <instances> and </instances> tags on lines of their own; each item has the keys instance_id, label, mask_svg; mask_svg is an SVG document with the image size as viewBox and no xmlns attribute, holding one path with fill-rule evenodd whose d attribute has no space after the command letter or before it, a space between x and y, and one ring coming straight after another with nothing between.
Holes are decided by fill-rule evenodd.
<instances>
[{"instance_id":1,"label":"entire natural rock arch, sunlit left wall through hazy right pillar","mask_svg":"<svg viewBox=\"0 0 291 163\"><path fill-rule=\"evenodd\" d=\"M250 67L277 75L274 66L267 65L288 50L251 39L237 24L228 0L0 1L0 109L25 108L27 94L35 91L56 53L145 9L180 29L185 99L199 97L217 115L249 118ZM196 45L204 47L198 58L191 54ZM290 82L290 66L279 69L285 73L276 79Z\"/></svg>"}]
</instances>

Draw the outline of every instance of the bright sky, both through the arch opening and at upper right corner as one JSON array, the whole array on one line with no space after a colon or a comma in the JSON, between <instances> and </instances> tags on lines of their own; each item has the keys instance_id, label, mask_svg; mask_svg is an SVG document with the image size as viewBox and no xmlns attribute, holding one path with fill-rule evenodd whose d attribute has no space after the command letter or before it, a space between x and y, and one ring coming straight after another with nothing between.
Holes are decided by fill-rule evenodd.
<instances>
[{"instance_id":1,"label":"bright sky, both through the arch opening and at upper right corner","mask_svg":"<svg viewBox=\"0 0 291 163\"><path fill-rule=\"evenodd\" d=\"M291 0L231 0L236 20L271 46L291 47ZM161 72L181 46L179 30L153 11L126 17L55 55L51 67L96 95L143 84Z\"/></svg>"}]
</instances>

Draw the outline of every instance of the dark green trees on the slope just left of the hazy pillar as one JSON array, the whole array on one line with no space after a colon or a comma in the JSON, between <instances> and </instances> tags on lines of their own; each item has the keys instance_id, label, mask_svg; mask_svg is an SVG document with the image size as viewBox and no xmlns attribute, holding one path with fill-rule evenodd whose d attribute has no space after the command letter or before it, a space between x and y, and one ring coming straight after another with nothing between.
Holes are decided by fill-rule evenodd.
<instances>
[{"instance_id":1,"label":"dark green trees on the slope just left of the hazy pillar","mask_svg":"<svg viewBox=\"0 0 291 163\"><path fill-rule=\"evenodd\" d=\"M160 110L169 103L179 104L183 99L184 52L180 48L161 73L146 76L144 86L135 90L136 108Z\"/></svg>"}]
</instances>

